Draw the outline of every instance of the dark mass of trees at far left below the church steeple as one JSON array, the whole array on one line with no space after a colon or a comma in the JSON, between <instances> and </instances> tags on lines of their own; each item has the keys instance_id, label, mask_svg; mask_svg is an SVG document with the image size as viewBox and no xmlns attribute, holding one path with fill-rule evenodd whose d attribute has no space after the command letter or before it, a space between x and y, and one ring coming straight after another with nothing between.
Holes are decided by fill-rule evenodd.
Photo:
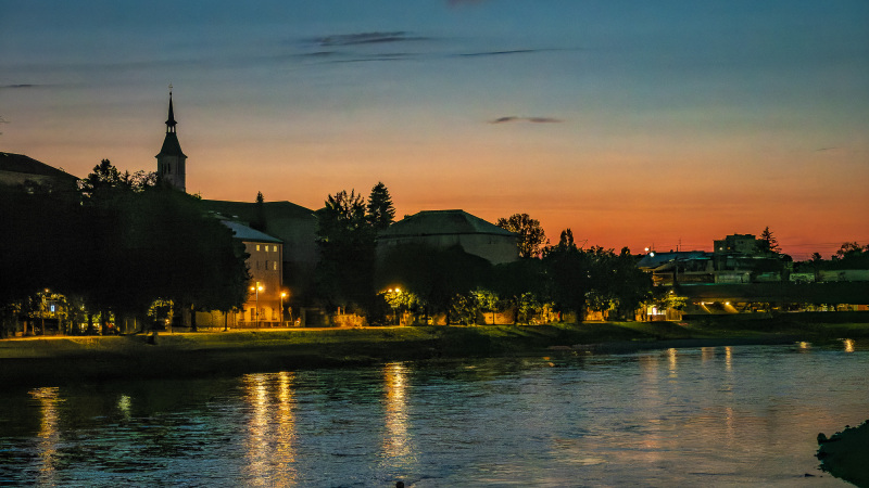
<instances>
[{"instance_id":1,"label":"dark mass of trees at far left below the church steeple","mask_svg":"<svg viewBox=\"0 0 869 488\"><path fill-rule=\"evenodd\" d=\"M148 324L155 303L227 311L244 301L243 246L153 174L122 174L103 159L78 193L4 187L0 208L3 332L47 295L64 301L62 332L73 334L70 324L85 321L105 333L110 314Z\"/></svg>"}]
</instances>

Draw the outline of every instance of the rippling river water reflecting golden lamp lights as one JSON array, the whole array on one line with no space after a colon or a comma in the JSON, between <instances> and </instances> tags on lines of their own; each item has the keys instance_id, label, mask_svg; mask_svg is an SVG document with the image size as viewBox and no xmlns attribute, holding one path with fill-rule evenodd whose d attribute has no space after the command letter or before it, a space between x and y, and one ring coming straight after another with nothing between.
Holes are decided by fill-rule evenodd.
<instances>
[{"instance_id":1,"label":"rippling river water reflecting golden lamp lights","mask_svg":"<svg viewBox=\"0 0 869 488\"><path fill-rule=\"evenodd\" d=\"M847 486L816 437L867 372L844 342L47 385L0 394L0 485Z\"/></svg>"}]
</instances>

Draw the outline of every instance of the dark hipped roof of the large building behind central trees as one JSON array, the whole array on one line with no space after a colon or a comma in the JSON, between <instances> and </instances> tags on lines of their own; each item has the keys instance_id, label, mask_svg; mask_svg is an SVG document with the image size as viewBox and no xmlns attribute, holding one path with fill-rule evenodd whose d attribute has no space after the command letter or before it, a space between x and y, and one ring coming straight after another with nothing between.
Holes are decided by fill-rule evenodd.
<instances>
[{"instance_id":1,"label":"dark hipped roof of the large building behind central trees","mask_svg":"<svg viewBox=\"0 0 869 488\"><path fill-rule=\"evenodd\" d=\"M380 232L380 237L442 234L516 235L464 210L424 210L393 223Z\"/></svg>"}]
</instances>

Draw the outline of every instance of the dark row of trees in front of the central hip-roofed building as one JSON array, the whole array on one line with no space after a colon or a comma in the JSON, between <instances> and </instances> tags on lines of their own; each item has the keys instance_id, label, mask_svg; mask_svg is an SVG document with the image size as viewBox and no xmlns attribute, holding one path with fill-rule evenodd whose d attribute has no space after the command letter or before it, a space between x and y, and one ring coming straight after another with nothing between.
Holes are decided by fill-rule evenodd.
<instances>
[{"instance_id":1,"label":"dark row of trees in front of the central hip-roofed building","mask_svg":"<svg viewBox=\"0 0 869 488\"><path fill-rule=\"evenodd\" d=\"M411 313L417 323L432 316L476 323L483 313L506 310L526 323L549 312L582 320L589 310L632 319L640 304L653 298L651 278L627 248L583 249L569 229L558 244L546 245L540 223L527 214L499 220L518 234L521 257L498 266L457 245L406 244L378 256L377 232L394 216L382 183L367 205L353 191L329 195L317 216L317 295L325 307L365 316L370 323L394 321L398 312Z\"/></svg>"}]
</instances>

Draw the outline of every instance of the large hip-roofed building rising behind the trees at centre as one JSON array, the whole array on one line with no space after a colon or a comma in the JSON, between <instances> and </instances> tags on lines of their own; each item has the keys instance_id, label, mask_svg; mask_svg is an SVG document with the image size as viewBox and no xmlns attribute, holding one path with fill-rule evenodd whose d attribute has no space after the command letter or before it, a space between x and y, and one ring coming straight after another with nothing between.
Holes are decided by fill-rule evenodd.
<instances>
[{"instance_id":1,"label":"large hip-roofed building rising behind the trees at centre","mask_svg":"<svg viewBox=\"0 0 869 488\"><path fill-rule=\"evenodd\" d=\"M423 244L437 249L454 245L493 265L519 258L518 236L464 210L424 210L405 217L380 232L378 256L405 244Z\"/></svg>"}]
</instances>

